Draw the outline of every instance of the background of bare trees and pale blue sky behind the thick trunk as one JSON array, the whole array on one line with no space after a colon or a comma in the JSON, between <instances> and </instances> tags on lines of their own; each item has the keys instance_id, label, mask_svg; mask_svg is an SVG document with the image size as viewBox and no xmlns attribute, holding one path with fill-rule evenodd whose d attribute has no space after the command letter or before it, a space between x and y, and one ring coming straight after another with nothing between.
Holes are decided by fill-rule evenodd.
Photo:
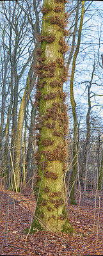
<instances>
[{"instance_id":1,"label":"background of bare trees and pale blue sky behind the thick trunk","mask_svg":"<svg viewBox=\"0 0 103 256\"><path fill-rule=\"evenodd\" d=\"M85 1L81 26L83 2L67 1L65 4L65 42L68 45L67 52L63 52L68 70L67 81L63 84L68 113L65 184L71 204L76 204L75 186L78 184L83 193L87 189L100 190L103 184L103 8L101 1ZM6 189L16 192L26 184L34 189L37 176L36 52L45 14L43 4L39 0L0 2L1 178Z\"/></svg>"}]
</instances>

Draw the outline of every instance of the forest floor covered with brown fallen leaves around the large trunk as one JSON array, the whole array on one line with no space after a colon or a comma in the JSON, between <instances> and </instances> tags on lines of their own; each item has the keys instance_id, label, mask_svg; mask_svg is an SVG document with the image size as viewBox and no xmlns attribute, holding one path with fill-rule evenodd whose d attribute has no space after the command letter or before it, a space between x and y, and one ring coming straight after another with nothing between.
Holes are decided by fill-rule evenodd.
<instances>
[{"instance_id":1,"label":"forest floor covered with brown fallen leaves around the large trunk","mask_svg":"<svg viewBox=\"0 0 103 256\"><path fill-rule=\"evenodd\" d=\"M68 200L66 206L77 234L38 232L27 237L24 229L30 227L35 195L30 188L16 194L0 186L1 255L103 255L103 191L87 191L79 199L77 191L77 205Z\"/></svg>"}]
</instances>

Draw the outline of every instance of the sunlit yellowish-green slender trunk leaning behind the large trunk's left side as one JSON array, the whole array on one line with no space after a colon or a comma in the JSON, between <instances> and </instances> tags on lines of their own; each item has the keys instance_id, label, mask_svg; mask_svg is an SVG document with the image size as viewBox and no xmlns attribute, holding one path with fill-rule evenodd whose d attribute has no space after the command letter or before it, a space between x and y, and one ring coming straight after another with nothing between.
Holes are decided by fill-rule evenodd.
<instances>
[{"instance_id":1,"label":"sunlit yellowish-green slender trunk leaning behind the large trunk's left side","mask_svg":"<svg viewBox=\"0 0 103 256\"><path fill-rule=\"evenodd\" d=\"M36 49L35 49L36 51ZM20 156L21 156L21 142L22 142L22 129L24 124L24 114L26 111L26 106L29 100L29 95L33 90L33 86L36 80L36 74L34 72L34 65L36 65L36 56L34 52L33 61L31 63L31 68L29 69L28 78L26 81L26 89L20 104L20 110L17 120L17 131L15 136L15 158L14 158L14 170L15 170L15 180L17 184L17 190L20 189ZM15 189L15 184L13 181L13 187Z\"/></svg>"}]
</instances>

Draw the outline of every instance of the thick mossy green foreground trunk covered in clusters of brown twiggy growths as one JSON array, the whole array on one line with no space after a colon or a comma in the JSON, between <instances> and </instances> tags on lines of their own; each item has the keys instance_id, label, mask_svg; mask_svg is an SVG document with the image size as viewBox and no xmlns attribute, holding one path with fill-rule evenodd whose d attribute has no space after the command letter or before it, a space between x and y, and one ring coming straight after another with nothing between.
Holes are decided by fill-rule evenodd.
<instances>
[{"instance_id":1,"label":"thick mossy green foreground trunk covered in clusters of brown twiggy growths","mask_svg":"<svg viewBox=\"0 0 103 256\"><path fill-rule=\"evenodd\" d=\"M72 232L65 211L65 193L63 186L64 165L67 151L64 136L67 133L68 117L63 104L63 82L65 67L63 53L65 45L65 2L44 0L41 49L38 57L36 103L40 100L36 129L40 130L38 152L35 154L38 164L36 184L37 204L35 215L54 232ZM31 232L44 229L38 220L33 221Z\"/></svg>"}]
</instances>

